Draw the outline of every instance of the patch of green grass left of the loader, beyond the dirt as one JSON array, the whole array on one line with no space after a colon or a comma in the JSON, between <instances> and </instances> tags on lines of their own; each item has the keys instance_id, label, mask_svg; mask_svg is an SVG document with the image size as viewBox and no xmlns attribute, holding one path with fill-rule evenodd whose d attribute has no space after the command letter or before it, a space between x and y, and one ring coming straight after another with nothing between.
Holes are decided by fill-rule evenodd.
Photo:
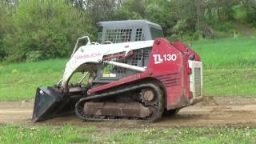
<instances>
[{"instance_id":1,"label":"patch of green grass left of the loader, beyond the dirt","mask_svg":"<svg viewBox=\"0 0 256 144\"><path fill-rule=\"evenodd\" d=\"M0 64L0 99L9 101L33 98L38 86L53 86L58 82L65 63L65 59L54 59Z\"/></svg>"}]
</instances>

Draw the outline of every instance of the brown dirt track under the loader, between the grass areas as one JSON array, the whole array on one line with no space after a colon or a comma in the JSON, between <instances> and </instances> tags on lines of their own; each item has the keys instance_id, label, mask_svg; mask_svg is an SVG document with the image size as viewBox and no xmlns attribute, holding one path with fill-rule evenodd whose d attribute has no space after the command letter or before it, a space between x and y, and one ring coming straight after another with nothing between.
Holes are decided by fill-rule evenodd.
<instances>
[{"instance_id":1,"label":"brown dirt track under the loader, between the grass areas","mask_svg":"<svg viewBox=\"0 0 256 144\"><path fill-rule=\"evenodd\" d=\"M0 124L78 125L110 128L143 127L256 127L256 98L206 97L194 106L183 108L174 117L164 116L159 122L134 121L82 122L76 116L54 118L46 122L32 123L33 101L0 102Z\"/></svg>"}]
</instances>

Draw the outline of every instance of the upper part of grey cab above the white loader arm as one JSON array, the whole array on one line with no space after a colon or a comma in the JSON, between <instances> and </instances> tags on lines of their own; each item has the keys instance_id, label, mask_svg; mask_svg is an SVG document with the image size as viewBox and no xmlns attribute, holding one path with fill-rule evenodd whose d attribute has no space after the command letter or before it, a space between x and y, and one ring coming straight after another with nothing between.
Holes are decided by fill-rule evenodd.
<instances>
[{"instance_id":1,"label":"upper part of grey cab above the white loader arm","mask_svg":"<svg viewBox=\"0 0 256 144\"><path fill-rule=\"evenodd\" d=\"M98 22L97 25L102 26L102 33L98 35L98 42L102 44L147 41L163 37L162 27L146 20Z\"/></svg>"}]
</instances>

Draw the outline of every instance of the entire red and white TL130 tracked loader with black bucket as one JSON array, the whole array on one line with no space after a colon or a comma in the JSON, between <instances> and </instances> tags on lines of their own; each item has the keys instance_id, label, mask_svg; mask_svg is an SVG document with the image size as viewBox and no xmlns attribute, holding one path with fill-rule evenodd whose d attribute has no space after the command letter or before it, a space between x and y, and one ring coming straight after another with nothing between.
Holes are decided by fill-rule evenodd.
<instances>
[{"instance_id":1,"label":"entire red and white TL130 tracked loader with black bucket","mask_svg":"<svg viewBox=\"0 0 256 144\"><path fill-rule=\"evenodd\" d=\"M72 113L84 121L156 122L202 99L198 54L162 38L161 26L144 20L98 26L98 42L78 38L58 84L38 88L33 122ZM74 73L83 76L71 84Z\"/></svg>"}]
</instances>

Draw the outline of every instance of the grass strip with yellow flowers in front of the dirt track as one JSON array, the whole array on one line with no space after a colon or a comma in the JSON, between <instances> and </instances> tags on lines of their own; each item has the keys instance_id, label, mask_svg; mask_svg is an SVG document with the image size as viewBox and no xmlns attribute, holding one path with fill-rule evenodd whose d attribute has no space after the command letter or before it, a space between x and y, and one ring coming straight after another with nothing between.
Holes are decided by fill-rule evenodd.
<instances>
[{"instance_id":1,"label":"grass strip with yellow flowers in front of the dirt track","mask_svg":"<svg viewBox=\"0 0 256 144\"><path fill-rule=\"evenodd\" d=\"M255 143L251 128L110 129L77 126L0 126L3 143Z\"/></svg>"}]
</instances>

